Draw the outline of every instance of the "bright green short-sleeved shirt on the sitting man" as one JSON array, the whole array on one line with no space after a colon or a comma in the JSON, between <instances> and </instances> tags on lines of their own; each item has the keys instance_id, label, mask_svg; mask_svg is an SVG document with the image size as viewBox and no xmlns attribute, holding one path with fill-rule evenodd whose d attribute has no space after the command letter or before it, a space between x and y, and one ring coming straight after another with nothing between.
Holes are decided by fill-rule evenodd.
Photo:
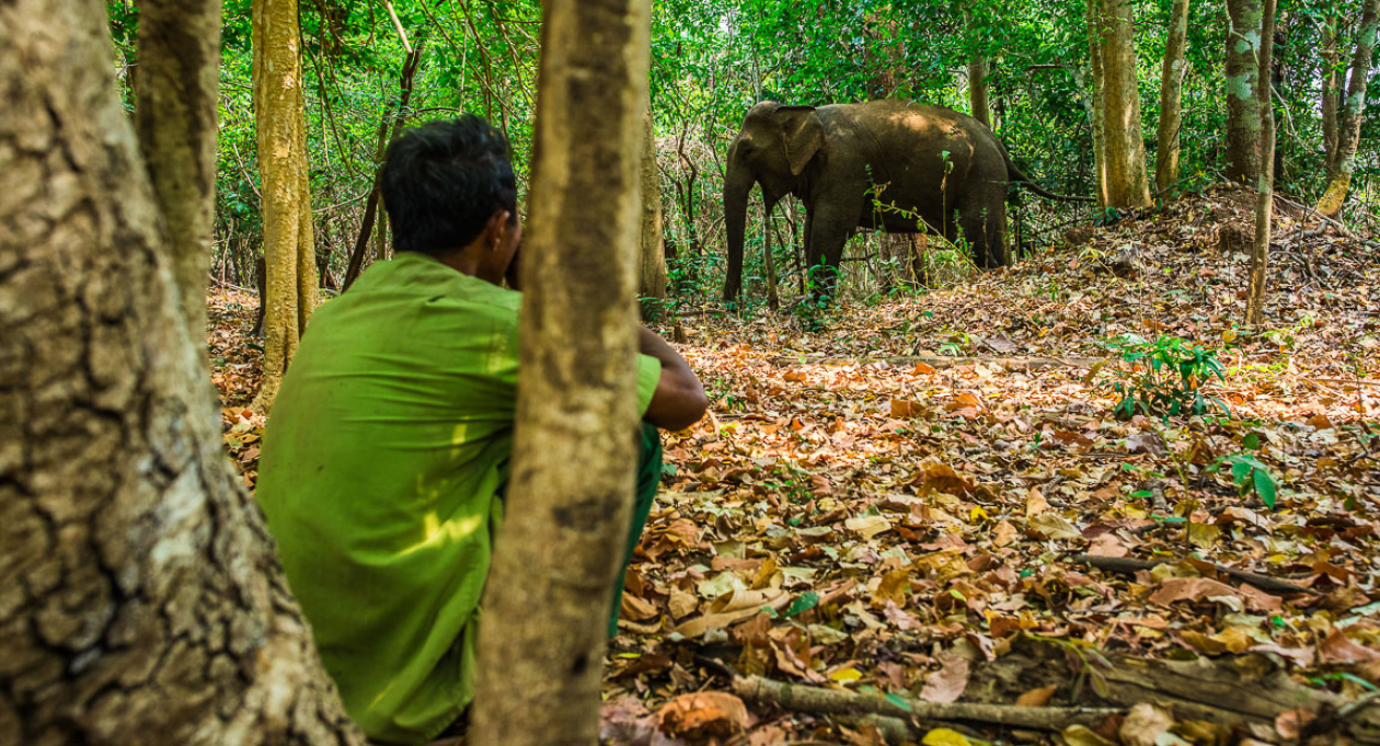
<instances>
[{"instance_id":1,"label":"bright green short-sleeved shirt on the sitting man","mask_svg":"<svg viewBox=\"0 0 1380 746\"><path fill-rule=\"evenodd\" d=\"M400 253L316 311L273 403L257 499L370 738L428 740L473 699L520 301ZM660 372L639 356L639 412Z\"/></svg>"}]
</instances>

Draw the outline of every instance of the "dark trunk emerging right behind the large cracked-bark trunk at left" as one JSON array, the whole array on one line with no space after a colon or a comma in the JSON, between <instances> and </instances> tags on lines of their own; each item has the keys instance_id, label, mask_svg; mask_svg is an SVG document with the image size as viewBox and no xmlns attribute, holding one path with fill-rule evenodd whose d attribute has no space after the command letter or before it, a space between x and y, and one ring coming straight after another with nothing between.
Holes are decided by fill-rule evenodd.
<instances>
[{"instance_id":1,"label":"dark trunk emerging right behind the large cracked-bark trunk at left","mask_svg":"<svg viewBox=\"0 0 1380 746\"><path fill-rule=\"evenodd\" d=\"M215 105L221 62L219 0L139 3L139 87L134 126L167 221L182 319L206 334L206 278L215 221Z\"/></svg>"}]
</instances>

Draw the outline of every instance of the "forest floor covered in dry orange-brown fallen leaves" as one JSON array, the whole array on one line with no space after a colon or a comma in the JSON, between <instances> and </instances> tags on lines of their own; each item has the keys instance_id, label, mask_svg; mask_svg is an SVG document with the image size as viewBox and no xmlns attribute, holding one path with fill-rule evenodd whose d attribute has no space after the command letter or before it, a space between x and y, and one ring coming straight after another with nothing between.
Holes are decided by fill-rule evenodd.
<instances>
[{"instance_id":1,"label":"forest floor covered in dry orange-brown fallen leaves","mask_svg":"<svg viewBox=\"0 0 1380 746\"><path fill-rule=\"evenodd\" d=\"M1380 249L1282 216L1267 322L1249 330L1250 207L1210 192L958 286L816 316L683 314L679 348L712 413L664 438L604 738L1283 743L1318 727L1304 699L1376 691ZM251 485L255 308L213 291L225 438ZM1156 350L1208 367L1152 380ZM1205 412L1165 414L1162 399L1116 416L1123 392L1184 390ZM1225 688L1116 673L1143 659ZM856 696L744 707L751 676ZM1234 705L1239 727L1223 725L1220 707L1259 692L1300 711ZM1151 700L1014 729L1012 707L926 705Z\"/></svg>"}]
</instances>

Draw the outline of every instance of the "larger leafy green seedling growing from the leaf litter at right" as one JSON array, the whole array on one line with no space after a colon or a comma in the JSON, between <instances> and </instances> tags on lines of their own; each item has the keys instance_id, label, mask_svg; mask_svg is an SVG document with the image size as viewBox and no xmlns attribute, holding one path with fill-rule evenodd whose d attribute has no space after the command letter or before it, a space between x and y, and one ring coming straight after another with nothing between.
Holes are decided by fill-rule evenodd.
<instances>
[{"instance_id":1,"label":"larger leafy green seedling growing from the leaf litter at right","mask_svg":"<svg viewBox=\"0 0 1380 746\"><path fill-rule=\"evenodd\" d=\"M1179 417L1181 414L1203 414L1209 408L1217 408L1230 416L1227 403L1203 394L1202 387L1213 376L1224 381L1217 352L1194 345L1180 337L1159 337L1147 341L1137 334L1123 334L1107 343L1130 369L1116 367L1111 390L1118 396L1116 417L1129 420L1137 413ZM1100 366L1089 373L1089 380Z\"/></svg>"}]
</instances>

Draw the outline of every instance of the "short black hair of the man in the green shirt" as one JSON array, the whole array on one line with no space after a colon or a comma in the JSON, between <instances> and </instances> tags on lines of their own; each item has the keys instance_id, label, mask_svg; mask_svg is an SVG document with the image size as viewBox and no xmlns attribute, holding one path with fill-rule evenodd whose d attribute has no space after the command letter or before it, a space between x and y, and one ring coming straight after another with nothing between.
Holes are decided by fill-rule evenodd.
<instances>
[{"instance_id":1,"label":"short black hair of the man in the green shirt","mask_svg":"<svg viewBox=\"0 0 1380 746\"><path fill-rule=\"evenodd\" d=\"M498 210L518 220L508 140L475 115L404 133L388 148L379 189L397 251L461 249Z\"/></svg>"}]
</instances>

